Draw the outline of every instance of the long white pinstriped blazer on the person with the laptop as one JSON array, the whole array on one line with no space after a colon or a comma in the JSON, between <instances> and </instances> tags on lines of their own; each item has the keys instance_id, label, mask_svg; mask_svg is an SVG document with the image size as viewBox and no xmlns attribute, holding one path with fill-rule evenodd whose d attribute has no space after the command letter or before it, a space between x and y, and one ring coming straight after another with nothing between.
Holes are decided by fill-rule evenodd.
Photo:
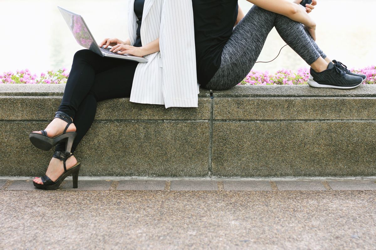
<instances>
[{"instance_id":1,"label":"long white pinstriped blazer on the person with the laptop","mask_svg":"<svg viewBox=\"0 0 376 250\"><path fill-rule=\"evenodd\" d=\"M137 17L130 0L129 39L136 40ZM143 45L159 37L160 52L145 57L133 78L130 101L170 107L197 107L198 84L191 0L145 0Z\"/></svg>"}]
</instances>

